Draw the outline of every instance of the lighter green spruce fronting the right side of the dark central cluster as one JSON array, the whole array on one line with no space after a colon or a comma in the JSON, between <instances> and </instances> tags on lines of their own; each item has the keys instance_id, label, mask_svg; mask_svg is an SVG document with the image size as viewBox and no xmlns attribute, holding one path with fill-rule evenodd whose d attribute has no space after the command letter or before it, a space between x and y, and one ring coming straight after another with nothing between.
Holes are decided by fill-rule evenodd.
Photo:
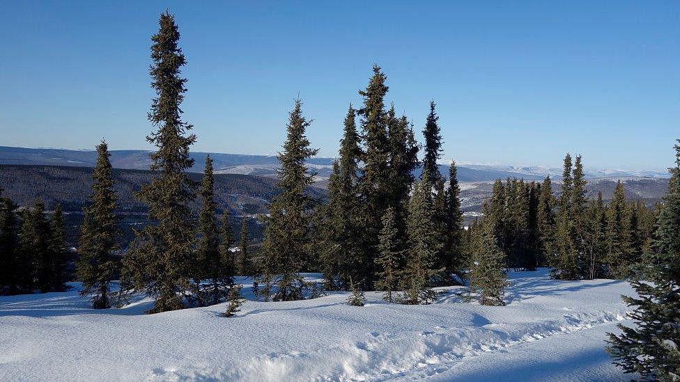
<instances>
[{"instance_id":1,"label":"lighter green spruce fronting the right side of the dark central cluster","mask_svg":"<svg viewBox=\"0 0 680 382\"><path fill-rule=\"evenodd\" d=\"M435 234L432 185L427 173L415 184L409 204L408 257L403 277L403 302L431 303L435 292L432 280L443 269L433 269L441 243Z\"/></svg>"}]
</instances>

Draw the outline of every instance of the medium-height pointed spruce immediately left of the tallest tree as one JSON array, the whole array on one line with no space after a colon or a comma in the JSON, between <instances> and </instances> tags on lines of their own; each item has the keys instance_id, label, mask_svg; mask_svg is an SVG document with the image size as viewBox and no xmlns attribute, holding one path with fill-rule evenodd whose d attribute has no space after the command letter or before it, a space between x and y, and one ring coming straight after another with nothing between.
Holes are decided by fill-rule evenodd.
<instances>
[{"instance_id":1,"label":"medium-height pointed spruce immediately left of the tallest tree","mask_svg":"<svg viewBox=\"0 0 680 382\"><path fill-rule=\"evenodd\" d=\"M81 296L91 295L95 309L111 308L111 279L116 271L113 258L116 246L116 190L111 174L109 148L105 141L97 145L97 163L92 173L91 202L84 209L80 255L76 271L82 282Z\"/></svg>"}]
</instances>

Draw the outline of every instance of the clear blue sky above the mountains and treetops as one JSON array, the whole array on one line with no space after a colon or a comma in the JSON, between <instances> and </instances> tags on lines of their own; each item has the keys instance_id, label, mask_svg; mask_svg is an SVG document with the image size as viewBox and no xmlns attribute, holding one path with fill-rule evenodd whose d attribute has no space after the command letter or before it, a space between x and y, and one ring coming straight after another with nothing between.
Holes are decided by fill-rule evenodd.
<instances>
[{"instance_id":1,"label":"clear blue sky above the mountains and treetops","mask_svg":"<svg viewBox=\"0 0 680 382\"><path fill-rule=\"evenodd\" d=\"M665 168L680 138L680 1L1 1L0 145L149 148L166 8L193 150L277 152L299 94L334 156L373 63L419 138L435 100L445 158Z\"/></svg>"}]
</instances>

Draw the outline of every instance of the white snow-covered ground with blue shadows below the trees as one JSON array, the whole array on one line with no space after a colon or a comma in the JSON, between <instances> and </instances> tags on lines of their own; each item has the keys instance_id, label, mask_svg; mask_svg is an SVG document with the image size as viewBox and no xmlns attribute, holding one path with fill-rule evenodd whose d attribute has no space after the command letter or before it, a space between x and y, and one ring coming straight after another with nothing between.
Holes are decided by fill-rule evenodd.
<instances>
[{"instance_id":1,"label":"white snow-covered ground with blue shadows below the trees","mask_svg":"<svg viewBox=\"0 0 680 382\"><path fill-rule=\"evenodd\" d=\"M311 275L310 275L311 276ZM242 280L247 281L247 280ZM632 294L615 280L510 276L504 307L464 303L364 307L347 294L247 301L157 315L141 299L97 311L65 293L0 297L0 381L624 381L605 353ZM247 288L244 288L246 291ZM252 298L252 296L248 296Z\"/></svg>"}]
</instances>

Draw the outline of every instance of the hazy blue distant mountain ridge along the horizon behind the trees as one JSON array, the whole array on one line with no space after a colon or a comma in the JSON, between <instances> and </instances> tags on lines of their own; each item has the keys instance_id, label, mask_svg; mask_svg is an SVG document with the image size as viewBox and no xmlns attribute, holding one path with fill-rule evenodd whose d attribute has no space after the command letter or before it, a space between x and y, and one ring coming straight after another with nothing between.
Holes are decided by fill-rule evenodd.
<instances>
[{"instance_id":1,"label":"hazy blue distant mountain ridge along the horizon behind the trees","mask_svg":"<svg viewBox=\"0 0 680 382\"><path fill-rule=\"evenodd\" d=\"M128 170L147 170L150 165L147 150L111 150L111 164L114 168ZM224 154L217 152L192 152L195 164L192 173L201 173L206 156L213 159L215 173L242 174L273 177L279 161L274 155ZM13 148L0 146L0 164L47 165L93 167L97 153L89 150L63 150L52 148ZM442 174L448 175L448 163L442 161ZM318 180L326 180L332 172L333 158L313 158L308 161L317 173ZM541 180L546 175L559 179L560 168L539 166L505 166L484 164L459 164L460 182L484 182L508 177L525 180ZM586 177L668 177L667 173L655 171L630 172L623 170L586 170Z\"/></svg>"}]
</instances>

